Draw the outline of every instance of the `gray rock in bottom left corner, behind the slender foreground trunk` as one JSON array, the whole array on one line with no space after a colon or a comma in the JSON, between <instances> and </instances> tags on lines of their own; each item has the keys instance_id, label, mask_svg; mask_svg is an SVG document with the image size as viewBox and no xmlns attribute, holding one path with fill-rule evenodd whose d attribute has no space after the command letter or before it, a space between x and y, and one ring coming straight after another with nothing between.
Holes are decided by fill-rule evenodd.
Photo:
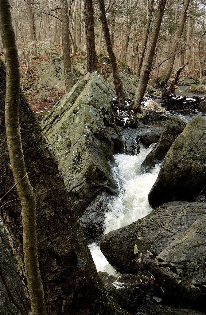
<instances>
[{"instance_id":1,"label":"gray rock in bottom left corner, behind the slender foreground trunk","mask_svg":"<svg viewBox=\"0 0 206 315\"><path fill-rule=\"evenodd\" d=\"M10 245L10 242L12 241L11 239L9 240L8 232L2 222L0 223L0 227L1 227L0 261L1 261L1 271L3 273L3 278L4 278L4 281L3 281L3 278L1 276L1 280L0 280L1 314L2 315L20 314L19 308L15 306L9 300L5 284L6 286L8 286L9 292L13 296L14 301L21 307L21 311L24 310L26 314L28 310L25 308L25 305L26 305L25 292L22 287L21 280L19 281L20 274L17 272L16 261L14 258L12 247ZM15 287L16 287L16 290L15 290Z\"/></svg>"}]
</instances>

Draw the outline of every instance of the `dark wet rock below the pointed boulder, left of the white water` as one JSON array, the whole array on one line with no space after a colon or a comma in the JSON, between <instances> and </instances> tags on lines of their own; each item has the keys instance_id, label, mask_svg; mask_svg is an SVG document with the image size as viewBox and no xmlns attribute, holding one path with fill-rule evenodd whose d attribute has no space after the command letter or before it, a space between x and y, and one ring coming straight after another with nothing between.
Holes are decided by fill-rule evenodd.
<instances>
[{"instance_id":1,"label":"dark wet rock below the pointed boulder, left of the white water","mask_svg":"<svg viewBox=\"0 0 206 315\"><path fill-rule=\"evenodd\" d=\"M104 232L104 213L108 210L108 194L99 194L80 218L81 228L86 238L99 240Z\"/></svg>"}]
</instances>

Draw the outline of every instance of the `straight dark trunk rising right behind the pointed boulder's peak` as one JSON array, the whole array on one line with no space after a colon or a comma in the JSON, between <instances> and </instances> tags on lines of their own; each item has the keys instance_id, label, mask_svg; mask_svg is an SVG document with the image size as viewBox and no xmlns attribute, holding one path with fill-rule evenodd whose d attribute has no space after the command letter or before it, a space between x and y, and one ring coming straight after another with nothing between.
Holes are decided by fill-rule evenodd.
<instances>
[{"instance_id":1,"label":"straight dark trunk rising right behind the pointed boulder's peak","mask_svg":"<svg viewBox=\"0 0 206 315\"><path fill-rule=\"evenodd\" d=\"M97 71L97 59L94 41L94 15L91 0L84 0L84 18L86 30L87 72Z\"/></svg>"}]
</instances>

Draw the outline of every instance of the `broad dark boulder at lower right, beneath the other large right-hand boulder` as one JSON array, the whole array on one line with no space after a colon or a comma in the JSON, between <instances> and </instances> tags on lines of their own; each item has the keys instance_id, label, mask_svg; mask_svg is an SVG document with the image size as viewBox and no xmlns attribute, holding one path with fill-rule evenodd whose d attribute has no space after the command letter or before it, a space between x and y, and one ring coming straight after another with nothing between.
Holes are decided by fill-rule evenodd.
<instances>
[{"instance_id":1,"label":"broad dark boulder at lower right, beneath the other large right-hand boulder","mask_svg":"<svg viewBox=\"0 0 206 315\"><path fill-rule=\"evenodd\" d=\"M205 294L205 204L171 202L104 235L100 249L123 273L150 271L164 291L190 307Z\"/></svg>"}]
</instances>

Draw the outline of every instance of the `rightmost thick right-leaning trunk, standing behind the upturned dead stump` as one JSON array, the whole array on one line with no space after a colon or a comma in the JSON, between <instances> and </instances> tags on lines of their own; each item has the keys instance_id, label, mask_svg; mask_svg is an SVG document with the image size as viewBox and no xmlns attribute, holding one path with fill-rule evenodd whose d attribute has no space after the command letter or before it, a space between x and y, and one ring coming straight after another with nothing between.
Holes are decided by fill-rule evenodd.
<instances>
[{"instance_id":1,"label":"rightmost thick right-leaning trunk, standing behind the upturned dead stump","mask_svg":"<svg viewBox=\"0 0 206 315\"><path fill-rule=\"evenodd\" d=\"M179 42L180 42L180 39L181 39L183 27L184 27L185 20L186 20L186 17L187 17L187 9L188 9L189 4L190 4L190 0L184 0L183 7L181 9L179 25L177 27L177 30L176 30L176 33L175 33L175 37L174 37L174 40L173 40L173 46L172 46L172 49L171 49L171 56L173 55L173 57L168 59L167 64L165 66L166 70L162 74L162 77L161 77L161 85L162 86L164 86L167 83L167 81L169 80L170 75L172 73L172 68L173 68L173 65L174 65L174 62L175 62L177 49L178 49L178 46L179 46Z\"/></svg>"}]
</instances>

